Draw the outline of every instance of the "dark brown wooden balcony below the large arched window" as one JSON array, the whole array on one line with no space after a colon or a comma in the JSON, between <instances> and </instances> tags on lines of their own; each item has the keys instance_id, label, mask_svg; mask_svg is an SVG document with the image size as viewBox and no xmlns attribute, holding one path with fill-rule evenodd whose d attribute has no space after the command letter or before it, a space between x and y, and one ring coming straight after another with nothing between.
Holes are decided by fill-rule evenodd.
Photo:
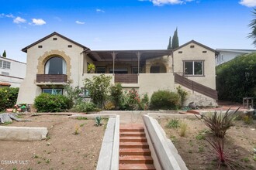
<instances>
[{"instance_id":1,"label":"dark brown wooden balcony below the large arched window","mask_svg":"<svg viewBox=\"0 0 256 170\"><path fill-rule=\"evenodd\" d=\"M66 83L66 74L36 74L36 83L51 82L51 83Z\"/></svg>"}]
</instances>

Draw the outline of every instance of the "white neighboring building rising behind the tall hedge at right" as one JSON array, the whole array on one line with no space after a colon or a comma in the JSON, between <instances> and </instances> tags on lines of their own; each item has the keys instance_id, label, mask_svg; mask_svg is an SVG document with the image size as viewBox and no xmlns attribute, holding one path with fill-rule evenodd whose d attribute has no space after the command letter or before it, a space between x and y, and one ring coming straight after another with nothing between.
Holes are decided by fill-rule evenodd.
<instances>
[{"instance_id":1,"label":"white neighboring building rising behind the tall hedge at right","mask_svg":"<svg viewBox=\"0 0 256 170\"><path fill-rule=\"evenodd\" d=\"M216 49L219 54L215 56L216 66L226 63L237 56L256 52L255 49Z\"/></svg>"}]
</instances>

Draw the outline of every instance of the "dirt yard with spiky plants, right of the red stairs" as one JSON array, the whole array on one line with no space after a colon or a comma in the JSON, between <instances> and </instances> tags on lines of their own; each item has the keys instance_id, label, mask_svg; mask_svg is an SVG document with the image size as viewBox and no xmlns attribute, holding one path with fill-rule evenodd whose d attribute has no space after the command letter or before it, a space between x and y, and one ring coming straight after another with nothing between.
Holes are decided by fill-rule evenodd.
<instances>
[{"instance_id":1,"label":"dirt yard with spiky plants, right of the red stairs","mask_svg":"<svg viewBox=\"0 0 256 170\"><path fill-rule=\"evenodd\" d=\"M171 120L171 119L170 119ZM167 137L171 139L182 156L185 164L190 170L217 169L216 157L212 147L205 138L212 138L213 134L207 131L205 124L198 119L183 119L179 122L188 124L185 137L180 136L180 128L167 128L170 120L159 120L164 128ZM245 125L243 121L234 121L235 126L227 130L224 151L236 163L242 165L244 169L256 169L256 158L254 148L256 148L256 121L253 124ZM235 167L237 170L243 169ZM228 169L221 166L220 169Z\"/></svg>"}]
</instances>

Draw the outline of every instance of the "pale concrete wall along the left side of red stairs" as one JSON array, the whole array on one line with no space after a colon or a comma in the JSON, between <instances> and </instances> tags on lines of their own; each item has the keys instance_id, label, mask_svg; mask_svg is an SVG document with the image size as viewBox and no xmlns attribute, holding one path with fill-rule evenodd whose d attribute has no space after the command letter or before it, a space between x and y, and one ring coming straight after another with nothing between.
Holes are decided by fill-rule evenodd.
<instances>
[{"instance_id":1,"label":"pale concrete wall along the left side of red stairs","mask_svg":"<svg viewBox=\"0 0 256 170\"><path fill-rule=\"evenodd\" d=\"M102 117L102 114L100 115ZM99 153L97 170L118 170L119 168L119 115L109 117L109 122Z\"/></svg>"}]
</instances>

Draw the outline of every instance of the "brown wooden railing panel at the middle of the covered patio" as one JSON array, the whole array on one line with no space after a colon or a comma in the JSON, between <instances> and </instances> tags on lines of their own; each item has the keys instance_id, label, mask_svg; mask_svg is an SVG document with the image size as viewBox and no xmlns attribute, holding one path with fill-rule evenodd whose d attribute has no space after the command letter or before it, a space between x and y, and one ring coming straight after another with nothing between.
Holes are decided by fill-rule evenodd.
<instances>
[{"instance_id":1,"label":"brown wooden railing panel at the middle of the covered patio","mask_svg":"<svg viewBox=\"0 0 256 170\"><path fill-rule=\"evenodd\" d=\"M138 83L138 74L115 73L115 83Z\"/></svg>"}]
</instances>

